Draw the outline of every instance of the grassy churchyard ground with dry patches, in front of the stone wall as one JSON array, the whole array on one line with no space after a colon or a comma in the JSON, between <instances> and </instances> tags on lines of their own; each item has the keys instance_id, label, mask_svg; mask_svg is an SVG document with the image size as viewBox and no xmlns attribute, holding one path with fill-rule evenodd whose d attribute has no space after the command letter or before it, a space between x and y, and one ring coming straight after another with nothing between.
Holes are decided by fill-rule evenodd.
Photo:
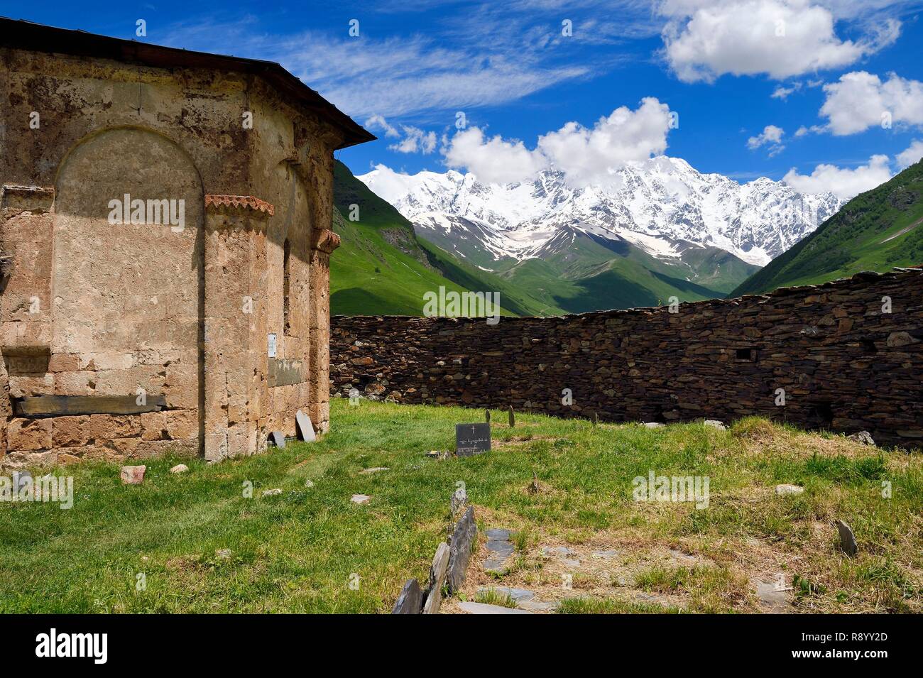
<instances>
[{"instance_id":1,"label":"grassy churchyard ground with dry patches, in front of the stone wall","mask_svg":"<svg viewBox=\"0 0 923 678\"><path fill-rule=\"evenodd\" d=\"M515 586L561 613L760 612L756 582L781 574L788 612L923 610L918 452L756 419L719 431L520 415L509 428L494 412L491 453L426 458L453 446L456 422L481 417L335 399L332 432L313 445L186 461L182 475L168 472L175 459L155 460L140 486L112 465L54 470L75 478L72 509L0 504L0 612L390 612L403 582L426 576L459 481L480 528L469 601L502 603L478 589ZM361 472L373 467L388 470ZM709 506L633 501L632 479L650 470L708 476ZM777 483L805 492L777 496ZM838 550L835 518L856 531L856 558ZM489 528L517 530L504 577L481 567ZM594 558L601 550L615 555Z\"/></svg>"}]
</instances>

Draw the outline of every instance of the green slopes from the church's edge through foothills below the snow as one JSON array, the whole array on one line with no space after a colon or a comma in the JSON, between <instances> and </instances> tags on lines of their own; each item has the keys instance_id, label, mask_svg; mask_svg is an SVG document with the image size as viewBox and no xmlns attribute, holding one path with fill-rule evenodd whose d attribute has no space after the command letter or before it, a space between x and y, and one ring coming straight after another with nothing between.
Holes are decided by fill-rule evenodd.
<instances>
[{"instance_id":1,"label":"green slopes from the church's edge through foothills below the snow","mask_svg":"<svg viewBox=\"0 0 923 678\"><path fill-rule=\"evenodd\" d=\"M429 230L415 234L410 221L339 161L333 197L333 230L342 238L330 257L334 315L422 315L424 293L440 286L497 291L509 315L655 306L671 296L683 302L723 297L757 270L714 247L690 245L680 258L657 258L580 229L562 229L535 258L495 260L477 237L429 242ZM348 219L352 206L358 220Z\"/></svg>"}]
</instances>

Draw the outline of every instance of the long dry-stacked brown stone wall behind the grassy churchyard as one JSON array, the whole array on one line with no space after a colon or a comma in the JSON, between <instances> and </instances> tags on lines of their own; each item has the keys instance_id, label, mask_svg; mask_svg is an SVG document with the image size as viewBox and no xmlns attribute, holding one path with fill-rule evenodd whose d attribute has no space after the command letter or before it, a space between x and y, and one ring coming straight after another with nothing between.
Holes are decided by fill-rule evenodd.
<instances>
[{"instance_id":1,"label":"long dry-stacked brown stone wall behind the grassy churchyard","mask_svg":"<svg viewBox=\"0 0 923 678\"><path fill-rule=\"evenodd\" d=\"M335 316L331 394L608 422L760 415L923 447L923 270L672 311Z\"/></svg>"}]
</instances>

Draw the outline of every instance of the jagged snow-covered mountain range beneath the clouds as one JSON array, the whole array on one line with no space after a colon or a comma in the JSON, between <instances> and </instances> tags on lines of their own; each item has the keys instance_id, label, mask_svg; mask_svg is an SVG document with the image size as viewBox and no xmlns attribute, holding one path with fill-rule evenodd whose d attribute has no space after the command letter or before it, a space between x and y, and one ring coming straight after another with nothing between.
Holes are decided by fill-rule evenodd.
<instances>
[{"instance_id":1,"label":"jagged snow-covered mountain range beneath the clouds","mask_svg":"<svg viewBox=\"0 0 923 678\"><path fill-rule=\"evenodd\" d=\"M609 185L583 188L569 186L554 170L506 185L481 184L471 173L454 171L407 175L378 168L357 178L421 236L459 244L455 254L469 258L476 244L495 260L541 256L561 232L582 232L628 241L658 259L713 246L765 266L844 203L831 193L800 194L765 177L738 184L667 156L629 163Z\"/></svg>"}]
</instances>

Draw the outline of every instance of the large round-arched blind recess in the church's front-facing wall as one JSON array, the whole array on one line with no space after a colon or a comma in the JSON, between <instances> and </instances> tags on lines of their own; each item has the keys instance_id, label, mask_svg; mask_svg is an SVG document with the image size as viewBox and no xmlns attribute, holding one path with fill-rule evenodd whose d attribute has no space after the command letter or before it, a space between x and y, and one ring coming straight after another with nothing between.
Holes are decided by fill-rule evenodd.
<instances>
[{"instance_id":1,"label":"large round-arched blind recess in the church's front-facing wall","mask_svg":"<svg viewBox=\"0 0 923 678\"><path fill-rule=\"evenodd\" d=\"M199 410L185 415L199 430L183 432L198 439L204 205L193 161L156 132L104 129L68 151L55 189L52 352L78 357L87 374L72 387L163 395L169 409Z\"/></svg>"}]
</instances>

